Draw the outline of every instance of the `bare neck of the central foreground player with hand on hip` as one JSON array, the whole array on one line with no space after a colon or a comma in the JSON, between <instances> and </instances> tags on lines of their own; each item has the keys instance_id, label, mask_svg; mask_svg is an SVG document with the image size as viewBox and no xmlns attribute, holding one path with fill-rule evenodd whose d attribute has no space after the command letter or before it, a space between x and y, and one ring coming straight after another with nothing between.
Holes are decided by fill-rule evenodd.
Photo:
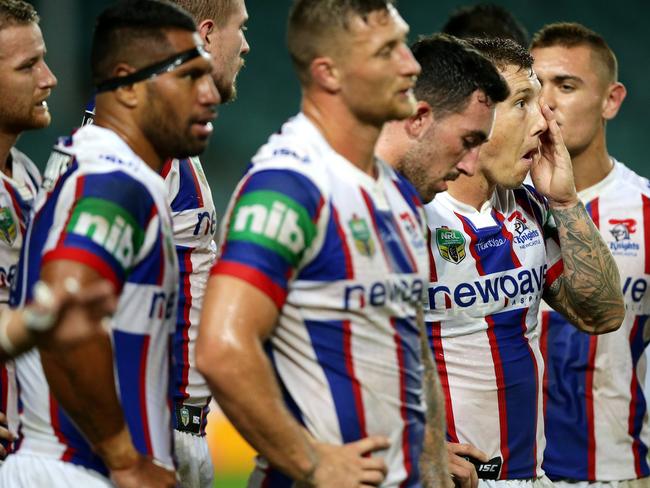
<instances>
[{"instance_id":1,"label":"bare neck of the central foreground player with hand on hip","mask_svg":"<svg viewBox=\"0 0 650 488\"><path fill-rule=\"evenodd\" d=\"M381 126L364 124L330 94L303 96L302 112L318 127L332 148L361 171L374 176L375 144Z\"/></svg>"}]
</instances>

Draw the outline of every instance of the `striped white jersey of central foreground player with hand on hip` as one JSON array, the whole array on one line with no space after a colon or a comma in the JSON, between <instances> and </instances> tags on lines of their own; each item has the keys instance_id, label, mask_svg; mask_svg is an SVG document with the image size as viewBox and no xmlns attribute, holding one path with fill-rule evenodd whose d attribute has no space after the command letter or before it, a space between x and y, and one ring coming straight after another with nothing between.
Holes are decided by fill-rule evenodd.
<instances>
[{"instance_id":1,"label":"striped white jersey of central foreground player with hand on hip","mask_svg":"<svg viewBox=\"0 0 650 488\"><path fill-rule=\"evenodd\" d=\"M382 486L419 487L423 214L409 183L376 169L374 179L336 153L303 114L291 119L238 185L213 273L280 310L267 351L296 419L335 444L388 436ZM253 478L292 486L264 461Z\"/></svg>"}]
</instances>

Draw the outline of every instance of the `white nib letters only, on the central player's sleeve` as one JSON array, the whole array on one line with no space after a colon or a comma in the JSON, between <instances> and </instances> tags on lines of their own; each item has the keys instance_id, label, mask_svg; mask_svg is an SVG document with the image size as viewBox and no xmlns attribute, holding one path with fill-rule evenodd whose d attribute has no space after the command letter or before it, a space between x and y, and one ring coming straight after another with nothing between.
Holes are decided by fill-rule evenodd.
<instances>
[{"instance_id":1,"label":"white nib letters only, on the central player's sleeve","mask_svg":"<svg viewBox=\"0 0 650 488\"><path fill-rule=\"evenodd\" d=\"M276 241L293 253L305 247L305 236L298 223L298 213L275 201L269 209L262 204L239 207L233 232L250 232Z\"/></svg>"}]
</instances>

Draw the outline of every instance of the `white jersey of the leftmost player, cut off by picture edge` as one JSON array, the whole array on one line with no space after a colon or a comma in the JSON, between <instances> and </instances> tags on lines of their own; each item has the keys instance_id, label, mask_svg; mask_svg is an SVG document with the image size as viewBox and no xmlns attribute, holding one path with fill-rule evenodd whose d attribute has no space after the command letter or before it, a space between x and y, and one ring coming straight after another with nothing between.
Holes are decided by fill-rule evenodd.
<instances>
[{"instance_id":1,"label":"white jersey of the leftmost player, cut off by picture edge","mask_svg":"<svg viewBox=\"0 0 650 488\"><path fill-rule=\"evenodd\" d=\"M9 292L16 276L20 249L29 223L41 175L32 161L11 149L11 178L0 172L0 310L9 307ZM9 430L18 432L18 392L13 362L0 364L0 412L7 415ZM5 449L12 446L2 441Z\"/></svg>"}]
</instances>

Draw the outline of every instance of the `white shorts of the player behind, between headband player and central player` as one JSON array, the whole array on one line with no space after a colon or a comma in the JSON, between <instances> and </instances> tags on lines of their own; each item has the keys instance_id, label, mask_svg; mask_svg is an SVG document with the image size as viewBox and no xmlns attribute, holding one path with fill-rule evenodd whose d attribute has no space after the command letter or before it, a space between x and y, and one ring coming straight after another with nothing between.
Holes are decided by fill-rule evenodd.
<instances>
[{"instance_id":1,"label":"white shorts of the player behind, between headband player and central player","mask_svg":"<svg viewBox=\"0 0 650 488\"><path fill-rule=\"evenodd\" d=\"M214 467L207 437L175 430L174 453L181 488L212 488Z\"/></svg>"}]
</instances>

